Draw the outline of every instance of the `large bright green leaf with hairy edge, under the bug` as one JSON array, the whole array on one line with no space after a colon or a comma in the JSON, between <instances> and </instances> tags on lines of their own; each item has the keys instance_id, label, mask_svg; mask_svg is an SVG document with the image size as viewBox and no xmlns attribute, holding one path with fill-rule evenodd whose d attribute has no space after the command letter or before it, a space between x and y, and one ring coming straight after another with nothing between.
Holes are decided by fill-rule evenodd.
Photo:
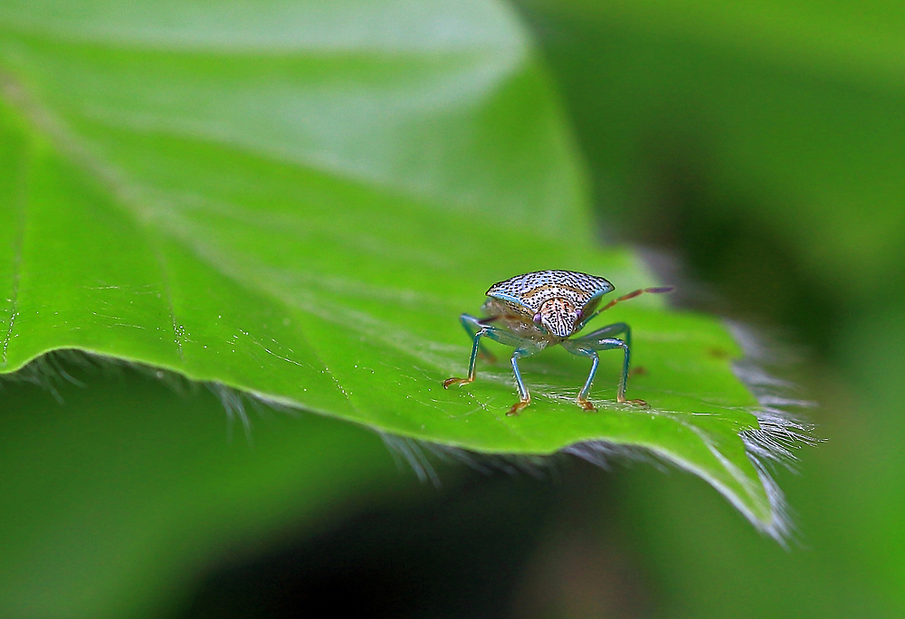
<instances>
[{"instance_id":1,"label":"large bright green leaf with hairy edge, under the bug","mask_svg":"<svg viewBox=\"0 0 905 619\"><path fill-rule=\"evenodd\" d=\"M270 9L270 10L265 10ZM494 281L567 268L653 283L594 248L580 165L523 33L491 2L54 2L0 9L3 371L79 348L478 452L605 441L696 472L775 529L740 433L757 401L718 321L643 298L632 397L602 360L465 371ZM392 27L384 27L393 24ZM603 323L601 323L603 324ZM505 358L505 357L502 357Z\"/></svg>"}]
</instances>

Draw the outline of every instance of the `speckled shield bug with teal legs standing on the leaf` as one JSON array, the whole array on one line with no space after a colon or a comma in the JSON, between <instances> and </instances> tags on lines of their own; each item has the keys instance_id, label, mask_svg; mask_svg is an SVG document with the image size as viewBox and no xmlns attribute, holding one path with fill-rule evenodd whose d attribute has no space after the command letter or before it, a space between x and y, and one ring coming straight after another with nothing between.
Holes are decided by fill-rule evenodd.
<instances>
[{"instance_id":1,"label":"speckled shield bug with teal legs standing on the leaf","mask_svg":"<svg viewBox=\"0 0 905 619\"><path fill-rule=\"evenodd\" d=\"M519 359L535 355L548 346L561 344L573 355L591 358L591 373L587 376L585 386L578 392L576 404L586 411L593 411L594 405L587 400L587 394L597 372L597 352L622 348L623 369L616 401L620 404L647 405L643 400L625 399L632 348L632 329L628 325L616 322L580 338L572 336L616 303L633 299L644 292L670 292L672 286L634 290L611 300L598 310L601 298L613 290L613 284L604 278L578 271L534 271L493 284L486 293L488 300L481 307L487 314L485 318L478 319L469 314L459 317L462 327L473 342L468 377L447 378L443 381L443 387L448 389L452 385L468 385L474 381L474 362L478 354L491 359L493 357L481 345L481 338L491 338L515 348L512 353L512 372L519 387L519 402L512 405L507 414L519 414L531 402L528 387L519 372Z\"/></svg>"}]
</instances>

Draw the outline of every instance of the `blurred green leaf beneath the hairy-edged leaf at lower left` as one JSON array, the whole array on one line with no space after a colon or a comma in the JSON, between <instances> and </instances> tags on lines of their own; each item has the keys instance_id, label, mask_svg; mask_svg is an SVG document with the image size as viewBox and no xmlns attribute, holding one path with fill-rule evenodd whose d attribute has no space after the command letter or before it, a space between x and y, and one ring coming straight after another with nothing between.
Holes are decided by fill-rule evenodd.
<instances>
[{"instance_id":1,"label":"blurred green leaf beneath the hairy-edged leaf at lower left","mask_svg":"<svg viewBox=\"0 0 905 619\"><path fill-rule=\"evenodd\" d=\"M227 440L206 390L64 364L85 385L6 383L0 415L0 607L14 616L160 616L224 552L396 496L375 433L269 414ZM52 373L43 370L43 376Z\"/></svg>"}]
</instances>

